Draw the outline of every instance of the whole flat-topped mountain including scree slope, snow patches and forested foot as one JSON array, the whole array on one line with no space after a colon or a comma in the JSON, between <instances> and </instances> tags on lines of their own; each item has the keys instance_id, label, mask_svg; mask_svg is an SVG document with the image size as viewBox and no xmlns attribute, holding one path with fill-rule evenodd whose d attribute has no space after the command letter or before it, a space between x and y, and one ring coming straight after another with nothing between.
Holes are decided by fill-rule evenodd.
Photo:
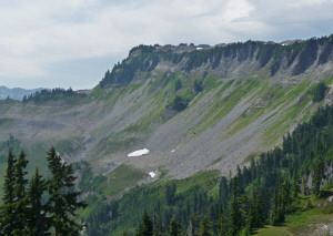
<instances>
[{"instance_id":1,"label":"whole flat-topped mountain including scree slope, snow patches and forested foot","mask_svg":"<svg viewBox=\"0 0 333 236\"><path fill-rule=\"evenodd\" d=\"M323 235L332 65L333 35L139 45L92 90L0 101L0 170L11 146L44 172L56 146L79 176L89 235L133 235L144 209L164 233L172 217L195 230L208 216L216 234L222 208L232 235Z\"/></svg>"}]
</instances>

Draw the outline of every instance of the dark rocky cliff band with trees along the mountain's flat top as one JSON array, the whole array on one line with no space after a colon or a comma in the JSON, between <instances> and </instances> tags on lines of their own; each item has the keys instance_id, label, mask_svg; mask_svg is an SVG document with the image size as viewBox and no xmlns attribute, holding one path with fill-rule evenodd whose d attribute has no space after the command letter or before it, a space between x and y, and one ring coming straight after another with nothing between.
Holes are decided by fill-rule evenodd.
<instances>
[{"instance_id":1,"label":"dark rocky cliff band with trees along the mountain's flat top","mask_svg":"<svg viewBox=\"0 0 333 236\"><path fill-rule=\"evenodd\" d=\"M157 73L181 71L186 76L213 74L223 79L304 78L332 75L333 37L283 43L248 41L209 45L140 45L107 72L104 88L130 83ZM313 74L314 73L314 74Z\"/></svg>"}]
</instances>

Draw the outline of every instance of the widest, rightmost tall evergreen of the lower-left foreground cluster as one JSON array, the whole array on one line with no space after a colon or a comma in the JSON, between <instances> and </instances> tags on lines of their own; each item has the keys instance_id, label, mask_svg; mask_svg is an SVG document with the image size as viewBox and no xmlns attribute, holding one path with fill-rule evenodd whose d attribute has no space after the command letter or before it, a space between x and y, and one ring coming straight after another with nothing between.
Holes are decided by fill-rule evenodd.
<instances>
[{"instance_id":1,"label":"widest, rightmost tall evergreen of the lower-left foreground cluster","mask_svg":"<svg viewBox=\"0 0 333 236\"><path fill-rule=\"evenodd\" d=\"M48 152L47 160L49 170L52 173L51 179L48 181L50 195L48 205L54 234L56 236L79 235L83 225L75 220L75 211L85 207L85 203L78 201L80 193L74 192L75 177L72 167L62 161L54 147L51 147Z\"/></svg>"}]
</instances>

